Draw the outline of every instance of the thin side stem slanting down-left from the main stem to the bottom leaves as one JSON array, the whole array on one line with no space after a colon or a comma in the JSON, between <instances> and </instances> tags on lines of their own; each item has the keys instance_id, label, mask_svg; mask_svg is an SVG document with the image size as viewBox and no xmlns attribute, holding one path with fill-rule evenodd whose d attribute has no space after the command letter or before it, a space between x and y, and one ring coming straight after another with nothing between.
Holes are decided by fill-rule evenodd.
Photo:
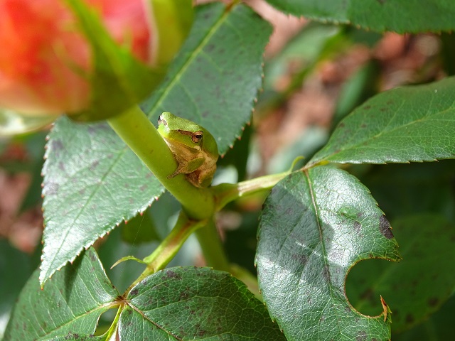
<instances>
[{"instance_id":1,"label":"thin side stem slanting down-left from the main stem to the bottom leaves","mask_svg":"<svg viewBox=\"0 0 455 341\"><path fill-rule=\"evenodd\" d=\"M159 244L159 246L142 261L147 264L146 269L142 274L132 283L127 289L128 293L137 283L142 281L147 276L154 274L156 271L164 269L166 265L181 249L183 243L200 227L207 224L207 220L189 220L185 213L181 212L178 216L176 225L173 227L171 233Z\"/></svg>"}]
</instances>

